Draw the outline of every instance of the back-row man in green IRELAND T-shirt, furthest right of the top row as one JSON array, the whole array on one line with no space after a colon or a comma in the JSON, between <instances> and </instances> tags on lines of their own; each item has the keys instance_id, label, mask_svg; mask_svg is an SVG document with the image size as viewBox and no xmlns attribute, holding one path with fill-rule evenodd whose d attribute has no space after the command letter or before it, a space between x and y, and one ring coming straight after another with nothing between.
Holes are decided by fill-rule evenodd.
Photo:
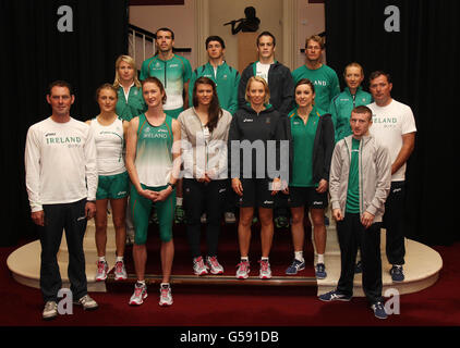
<instances>
[{"instance_id":1,"label":"back-row man in green IRELAND T-shirt, furthest right of the top row","mask_svg":"<svg viewBox=\"0 0 460 348\"><path fill-rule=\"evenodd\" d=\"M313 35L305 40L305 64L292 72L296 84L302 78L308 78L315 85L316 108L327 112L335 96L340 94L340 84L337 73L323 64L324 40Z\"/></svg>"}]
</instances>

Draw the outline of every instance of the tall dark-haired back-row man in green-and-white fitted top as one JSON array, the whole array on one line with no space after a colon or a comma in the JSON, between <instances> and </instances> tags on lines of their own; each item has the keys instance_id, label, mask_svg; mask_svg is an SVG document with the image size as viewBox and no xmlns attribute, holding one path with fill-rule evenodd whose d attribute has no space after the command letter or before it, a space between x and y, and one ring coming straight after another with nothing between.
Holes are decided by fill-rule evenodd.
<instances>
[{"instance_id":1,"label":"tall dark-haired back-row man in green-and-white fitted top","mask_svg":"<svg viewBox=\"0 0 460 348\"><path fill-rule=\"evenodd\" d=\"M158 53L142 63L140 79L148 76L157 77L166 90L164 111L168 116L177 120L179 114L189 105L189 83L192 66L186 58L173 53L174 33L170 28L159 28L156 36ZM178 182L175 206L175 223L184 221L182 209L182 181Z\"/></svg>"}]
</instances>

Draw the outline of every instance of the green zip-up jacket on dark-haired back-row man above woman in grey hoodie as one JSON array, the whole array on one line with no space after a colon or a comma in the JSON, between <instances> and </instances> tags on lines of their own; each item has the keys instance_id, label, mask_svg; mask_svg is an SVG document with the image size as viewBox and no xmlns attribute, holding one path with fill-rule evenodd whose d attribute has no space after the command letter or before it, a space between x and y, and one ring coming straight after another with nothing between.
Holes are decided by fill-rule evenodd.
<instances>
[{"instance_id":1,"label":"green zip-up jacket on dark-haired back-row man above woman in grey hoodie","mask_svg":"<svg viewBox=\"0 0 460 348\"><path fill-rule=\"evenodd\" d=\"M226 62L217 66L214 74L214 66L208 62L192 73L189 86L189 104L193 107L193 87L198 77L208 77L216 84L217 96L220 108L233 114L238 110L238 86L240 84L240 73Z\"/></svg>"}]
</instances>

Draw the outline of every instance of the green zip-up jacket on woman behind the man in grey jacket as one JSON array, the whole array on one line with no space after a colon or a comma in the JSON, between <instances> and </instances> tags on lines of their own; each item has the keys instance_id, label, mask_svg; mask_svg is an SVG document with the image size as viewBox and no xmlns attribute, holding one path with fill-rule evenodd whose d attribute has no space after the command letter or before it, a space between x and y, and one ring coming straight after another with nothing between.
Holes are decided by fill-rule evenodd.
<instances>
[{"instance_id":1,"label":"green zip-up jacket on woman behind the man in grey jacket","mask_svg":"<svg viewBox=\"0 0 460 348\"><path fill-rule=\"evenodd\" d=\"M358 87L356 94L353 96L350 89L346 89L334 97L330 102L329 113L332 116L334 127L336 130L336 142L351 135L350 116L351 111L355 107L367 105L373 102L372 96Z\"/></svg>"}]
</instances>

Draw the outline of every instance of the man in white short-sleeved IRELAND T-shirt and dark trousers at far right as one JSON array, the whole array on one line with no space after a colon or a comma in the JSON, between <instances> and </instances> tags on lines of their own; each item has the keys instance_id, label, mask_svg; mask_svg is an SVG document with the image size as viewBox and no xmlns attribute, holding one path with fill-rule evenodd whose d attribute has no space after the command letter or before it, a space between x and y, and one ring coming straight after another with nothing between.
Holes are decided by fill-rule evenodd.
<instances>
[{"instance_id":1,"label":"man in white short-sleeved IRELAND T-shirt and dark trousers at far right","mask_svg":"<svg viewBox=\"0 0 460 348\"><path fill-rule=\"evenodd\" d=\"M392 83L389 74L377 71L370 76L370 91L374 102L371 133L387 146L391 159L391 190L385 204L386 253L394 282L403 282L405 247L403 208L405 195L405 163L415 146L415 120L412 110L391 98Z\"/></svg>"}]
</instances>

